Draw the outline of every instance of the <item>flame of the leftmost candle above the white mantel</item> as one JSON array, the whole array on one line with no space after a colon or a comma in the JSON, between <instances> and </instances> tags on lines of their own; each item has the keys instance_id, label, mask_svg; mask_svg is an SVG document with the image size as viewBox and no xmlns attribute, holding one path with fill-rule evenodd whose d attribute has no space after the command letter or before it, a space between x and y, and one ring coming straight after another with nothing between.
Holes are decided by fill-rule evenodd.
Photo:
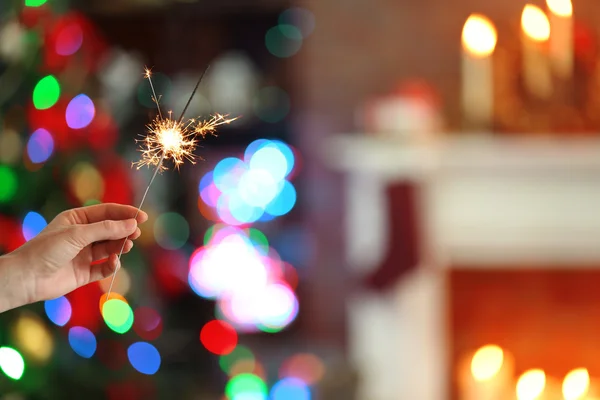
<instances>
[{"instance_id":1,"label":"flame of the leftmost candle above the white mantel","mask_svg":"<svg viewBox=\"0 0 600 400\"><path fill-rule=\"evenodd\" d=\"M494 52L497 42L494 24L483 15L471 14L463 27L463 48L476 57L487 57Z\"/></svg>"}]
</instances>

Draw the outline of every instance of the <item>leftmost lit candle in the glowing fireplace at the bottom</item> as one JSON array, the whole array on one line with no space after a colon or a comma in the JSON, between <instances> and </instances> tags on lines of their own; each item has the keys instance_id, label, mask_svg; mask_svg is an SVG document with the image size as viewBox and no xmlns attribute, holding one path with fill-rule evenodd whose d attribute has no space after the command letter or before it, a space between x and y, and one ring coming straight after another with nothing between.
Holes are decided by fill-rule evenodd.
<instances>
[{"instance_id":1,"label":"leftmost lit candle in the glowing fireplace at the bottom","mask_svg":"<svg viewBox=\"0 0 600 400\"><path fill-rule=\"evenodd\" d=\"M483 346L459 367L460 400L505 400L511 391L512 359L495 345Z\"/></svg>"}]
</instances>

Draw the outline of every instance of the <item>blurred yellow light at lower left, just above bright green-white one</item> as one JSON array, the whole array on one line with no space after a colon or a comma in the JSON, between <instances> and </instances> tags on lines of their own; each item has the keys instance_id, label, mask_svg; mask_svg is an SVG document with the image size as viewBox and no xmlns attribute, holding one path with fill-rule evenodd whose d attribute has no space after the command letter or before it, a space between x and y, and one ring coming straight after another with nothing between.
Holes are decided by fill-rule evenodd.
<instances>
[{"instance_id":1,"label":"blurred yellow light at lower left, just above bright green-white one","mask_svg":"<svg viewBox=\"0 0 600 400\"><path fill-rule=\"evenodd\" d=\"M13 326L15 342L29 359L43 363L54 350L50 331L36 314L26 313Z\"/></svg>"}]
</instances>

